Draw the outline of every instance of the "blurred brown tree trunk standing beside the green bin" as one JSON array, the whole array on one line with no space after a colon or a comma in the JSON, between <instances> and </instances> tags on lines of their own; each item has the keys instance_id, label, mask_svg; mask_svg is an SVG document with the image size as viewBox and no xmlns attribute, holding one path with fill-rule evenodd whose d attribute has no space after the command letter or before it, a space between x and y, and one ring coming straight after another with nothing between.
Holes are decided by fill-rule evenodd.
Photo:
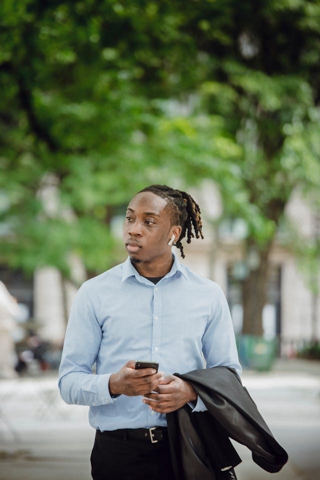
<instances>
[{"instance_id":1,"label":"blurred brown tree trunk standing beside the green bin","mask_svg":"<svg viewBox=\"0 0 320 480\"><path fill-rule=\"evenodd\" d=\"M255 245L251 242L249 249ZM256 249L257 266L249 268L242 284L243 324L242 333L262 335L262 310L267 298L269 252L271 242L263 250Z\"/></svg>"}]
</instances>

